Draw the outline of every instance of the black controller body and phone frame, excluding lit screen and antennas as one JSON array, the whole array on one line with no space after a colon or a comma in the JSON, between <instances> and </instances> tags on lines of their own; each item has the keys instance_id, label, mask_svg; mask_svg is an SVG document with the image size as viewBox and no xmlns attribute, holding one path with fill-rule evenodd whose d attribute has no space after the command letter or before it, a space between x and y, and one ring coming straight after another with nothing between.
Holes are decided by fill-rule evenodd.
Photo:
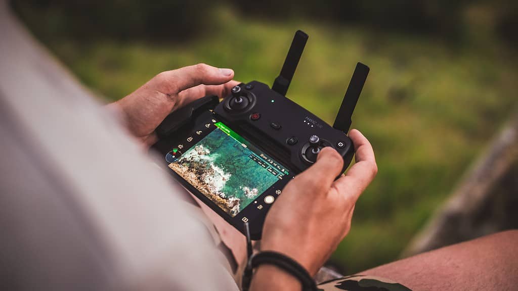
<instances>
[{"instance_id":1,"label":"black controller body and phone frame, excluding lit screen and antennas","mask_svg":"<svg viewBox=\"0 0 518 291\"><path fill-rule=\"evenodd\" d=\"M311 159L316 158L316 155L307 157L307 153L312 150L309 143L311 136L319 137L320 140L316 145L318 149L332 147L340 153L343 158L343 170L351 163L354 146L344 132L333 128L285 96L272 91L268 85L252 81L248 84L242 83L239 87L241 98L248 99L248 106L234 110L231 104L236 97L229 95L212 110L207 110L208 108L202 110L188 108L186 111L193 112L193 114L188 119L182 120L181 125L170 134L164 134L153 148L162 155L166 155L168 151L179 145L185 151L205 135L202 133L202 136L197 136L196 132L198 130L206 131L208 129L206 125L208 124L211 124L209 127L211 129L213 121L216 120L225 123L243 138L253 143L254 146L264 151L269 157L290 169L289 176L278 181L265 193L257 197L258 203L252 203L234 217L222 211L211 199L200 193L195 186L168 169L169 173L185 188L239 231L244 231L243 221L248 222L251 238L257 240L261 238L266 214L272 206L272 203L264 202L266 197L270 196L276 199L279 195L282 195L284 186L297 173L304 171L313 164ZM205 99L207 102L210 100L213 103L215 96L208 96ZM169 115L165 122L168 120L178 122L178 120L175 120L176 118L173 113ZM187 140L189 137L194 137L194 140L189 142ZM166 164L168 162L165 162Z\"/></svg>"}]
</instances>

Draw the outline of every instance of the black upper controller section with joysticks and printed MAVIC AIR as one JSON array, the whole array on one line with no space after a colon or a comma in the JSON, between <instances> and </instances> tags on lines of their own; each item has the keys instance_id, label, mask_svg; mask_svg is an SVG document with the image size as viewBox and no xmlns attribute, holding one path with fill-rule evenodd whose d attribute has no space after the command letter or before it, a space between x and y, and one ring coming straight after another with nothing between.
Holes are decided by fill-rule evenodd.
<instances>
[{"instance_id":1,"label":"black upper controller section with joysticks and printed MAVIC AIR","mask_svg":"<svg viewBox=\"0 0 518 291\"><path fill-rule=\"evenodd\" d=\"M267 84L252 81L239 86L241 97L248 99L247 107L234 109L232 105L236 97L229 95L214 109L227 125L245 133L252 142L296 173L315 162L316 154L312 153L315 148L334 148L343 158L343 170L349 166L354 146L344 132L271 90ZM311 136L319 137L318 145L311 146Z\"/></svg>"}]
</instances>

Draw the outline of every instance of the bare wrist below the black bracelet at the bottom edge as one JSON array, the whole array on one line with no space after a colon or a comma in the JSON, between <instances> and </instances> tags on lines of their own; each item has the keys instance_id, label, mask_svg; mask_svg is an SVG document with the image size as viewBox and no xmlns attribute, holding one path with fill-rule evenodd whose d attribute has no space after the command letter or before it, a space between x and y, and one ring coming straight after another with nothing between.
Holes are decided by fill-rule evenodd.
<instances>
[{"instance_id":1,"label":"bare wrist below the black bracelet at the bottom edge","mask_svg":"<svg viewBox=\"0 0 518 291\"><path fill-rule=\"evenodd\" d=\"M273 265L257 267L250 287L250 291L301 289L302 285L295 277Z\"/></svg>"}]
</instances>

